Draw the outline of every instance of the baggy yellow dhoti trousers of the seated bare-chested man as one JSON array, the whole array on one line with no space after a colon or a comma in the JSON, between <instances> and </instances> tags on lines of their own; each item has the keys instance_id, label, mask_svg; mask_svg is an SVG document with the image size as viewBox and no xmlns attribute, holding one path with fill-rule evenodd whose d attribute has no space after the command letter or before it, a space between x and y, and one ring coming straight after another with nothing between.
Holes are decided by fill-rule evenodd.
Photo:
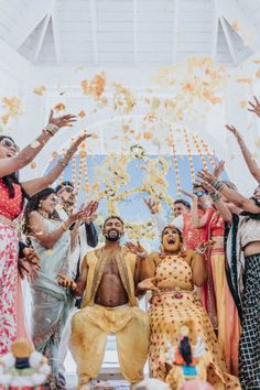
<instances>
[{"instance_id":1,"label":"baggy yellow dhoti trousers of the seated bare-chested man","mask_svg":"<svg viewBox=\"0 0 260 390\"><path fill-rule=\"evenodd\" d=\"M149 317L137 306L91 305L72 319L71 346L77 364L78 389L96 378L104 360L107 336L116 334L119 365L132 383L143 379L149 348Z\"/></svg>"}]
</instances>

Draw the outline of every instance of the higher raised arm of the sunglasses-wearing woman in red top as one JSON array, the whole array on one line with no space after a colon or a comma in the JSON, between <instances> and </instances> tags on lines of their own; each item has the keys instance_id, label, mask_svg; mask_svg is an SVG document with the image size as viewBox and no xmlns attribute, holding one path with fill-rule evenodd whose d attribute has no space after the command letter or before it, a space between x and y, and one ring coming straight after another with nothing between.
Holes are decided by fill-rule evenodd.
<instances>
[{"instance_id":1,"label":"higher raised arm of the sunglasses-wearing woman in red top","mask_svg":"<svg viewBox=\"0 0 260 390\"><path fill-rule=\"evenodd\" d=\"M41 136L36 138L36 140L32 141L15 156L1 159L0 177L7 176L30 164L41 152L46 142L58 131L58 129L62 127L72 126L74 121L75 117L72 115L53 118L53 111L51 111L48 124L43 130Z\"/></svg>"}]
</instances>

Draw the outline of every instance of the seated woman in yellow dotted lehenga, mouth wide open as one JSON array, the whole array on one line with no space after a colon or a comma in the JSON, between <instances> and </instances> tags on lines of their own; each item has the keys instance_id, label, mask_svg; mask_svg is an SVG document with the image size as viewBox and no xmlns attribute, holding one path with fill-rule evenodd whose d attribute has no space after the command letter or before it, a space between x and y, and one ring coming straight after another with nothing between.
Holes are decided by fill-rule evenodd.
<instances>
[{"instance_id":1,"label":"seated woman in yellow dotted lehenga, mouth wide open","mask_svg":"<svg viewBox=\"0 0 260 390\"><path fill-rule=\"evenodd\" d=\"M149 310L152 377L166 381L172 389L194 378L207 380L216 390L240 389L239 380L226 370L210 319L193 291L194 285L199 286L207 279L201 250L183 252L182 232L173 226L164 228L162 246L163 254L151 253L143 259L145 280L139 283L140 291L152 290ZM189 364L180 360L180 337L186 337L189 346L204 345L204 354L201 348L198 359L194 353ZM171 349L175 358L169 361ZM189 368L185 370L184 366Z\"/></svg>"}]
</instances>

